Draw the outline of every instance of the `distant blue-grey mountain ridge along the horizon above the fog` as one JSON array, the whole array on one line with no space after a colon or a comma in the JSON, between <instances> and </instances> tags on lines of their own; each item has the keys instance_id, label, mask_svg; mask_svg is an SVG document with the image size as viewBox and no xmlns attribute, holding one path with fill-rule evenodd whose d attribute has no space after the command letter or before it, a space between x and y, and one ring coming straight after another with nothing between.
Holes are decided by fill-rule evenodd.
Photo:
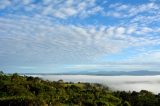
<instances>
[{"instance_id":1,"label":"distant blue-grey mountain ridge along the horizon above the fog","mask_svg":"<svg viewBox=\"0 0 160 106\"><path fill-rule=\"evenodd\" d=\"M66 73L20 73L22 75L99 75L99 76L120 76L120 75L133 75L133 76L149 76L160 75L159 71L80 71L80 72L66 72Z\"/></svg>"}]
</instances>

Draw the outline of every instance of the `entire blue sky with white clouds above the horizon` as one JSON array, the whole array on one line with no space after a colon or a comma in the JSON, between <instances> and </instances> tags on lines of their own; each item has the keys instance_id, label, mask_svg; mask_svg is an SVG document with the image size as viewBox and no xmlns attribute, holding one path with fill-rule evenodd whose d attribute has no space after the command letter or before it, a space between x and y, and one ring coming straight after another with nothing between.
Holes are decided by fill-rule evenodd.
<instances>
[{"instance_id":1,"label":"entire blue sky with white clouds above the horizon","mask_svg":"<svg viewBox=\"0 0 160 106\"><path fill-rule=\"evenodd\" d=\"M0 0L0 70L160 71L159 0Z\"/></svg>"}]
</instances>

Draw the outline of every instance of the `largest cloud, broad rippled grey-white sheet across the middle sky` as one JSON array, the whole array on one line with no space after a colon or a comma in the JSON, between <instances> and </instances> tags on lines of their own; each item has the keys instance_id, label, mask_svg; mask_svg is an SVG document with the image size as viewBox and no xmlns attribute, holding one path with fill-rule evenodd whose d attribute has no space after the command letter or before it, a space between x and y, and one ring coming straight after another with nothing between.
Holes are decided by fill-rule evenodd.
<instances>
[{"instance_id":1,"label":"largest cloud, broad rippled grey-white sheet across the middle sky","mask_svg":"<svg viewBox=\"0 0 160 106\"><path fill-rule=\"evenodd\" d=\"M0 18L2 64L91 62L124 48L157 45L160 40L134 37L132 34L137 31L134 27L66 26L51 23L47 18L11 16L12 19Z\"/></svg>"}]
</instances>

